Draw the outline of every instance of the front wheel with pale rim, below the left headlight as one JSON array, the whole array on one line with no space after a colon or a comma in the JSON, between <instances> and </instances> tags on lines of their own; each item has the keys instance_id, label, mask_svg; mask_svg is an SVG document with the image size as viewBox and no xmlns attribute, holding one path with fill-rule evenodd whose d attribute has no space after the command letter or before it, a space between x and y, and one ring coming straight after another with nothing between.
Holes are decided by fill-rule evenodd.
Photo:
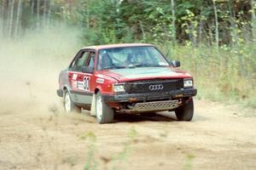
<instances>
[{"instance_id":1,"label":"front wheel with pale rim, below the left headlight","mask_svg":"<svg viewBox=\"0 0 256 170\"><path fill-rule=\"evenodd\" d=\"M100 92L96 94L96 120L101 124L113 122L113 109L105 104Z\"/></svg>"}]
</instances>

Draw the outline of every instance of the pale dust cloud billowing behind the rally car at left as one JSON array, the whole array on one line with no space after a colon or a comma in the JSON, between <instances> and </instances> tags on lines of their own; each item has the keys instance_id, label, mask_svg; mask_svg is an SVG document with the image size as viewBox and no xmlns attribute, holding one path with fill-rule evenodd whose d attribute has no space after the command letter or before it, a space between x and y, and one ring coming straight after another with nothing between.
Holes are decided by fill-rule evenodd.
<instances>
[{"instance_id":1,"label":"pale dust cloud billowing behind the rally car at left","mask_svg":"<svg viewBox=\"0 0 256 170\"><path fill-rule=\"evenodd\" d=\"M81 48L79 42L79 31L65 26L30 31L19 39L1 38L0 111L56 105L58 74Z\"/></svg>"}]
</instances>

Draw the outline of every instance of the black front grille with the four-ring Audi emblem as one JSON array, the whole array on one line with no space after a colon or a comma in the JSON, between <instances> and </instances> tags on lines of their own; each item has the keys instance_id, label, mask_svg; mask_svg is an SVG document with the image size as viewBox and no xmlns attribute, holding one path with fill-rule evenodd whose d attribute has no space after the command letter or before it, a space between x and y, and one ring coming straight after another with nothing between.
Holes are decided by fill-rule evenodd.
<instances>
[{"instance_id":1,"label":"black front grille with the four-ring Audi emblem","mask_svg":"<svg viewBox=\"0 0 256 170\"><path fill-rule=\"evenodd\" d=\"M170 92L180 88L183 88L183 79L156 79L125 83L125 92L128 94Z\"/></svg>"}]
</instances>

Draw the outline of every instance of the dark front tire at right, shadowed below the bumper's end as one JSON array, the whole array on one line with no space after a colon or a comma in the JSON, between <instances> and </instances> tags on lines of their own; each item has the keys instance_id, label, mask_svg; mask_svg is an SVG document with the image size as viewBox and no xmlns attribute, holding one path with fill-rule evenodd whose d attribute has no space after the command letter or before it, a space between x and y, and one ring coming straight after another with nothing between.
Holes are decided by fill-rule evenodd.
<instances>
[{"instance_id":1,"label":"dark front tire at right, shadowed below the bumper's end","mask_svg":"<svg viewBox=\"0 0 256 170\"><path fill-rule=\"evenodd\" d=\"M194 115L194 102L190 99L188 103L175 110L178 121L191 121Z\"/></svg>"}]
</instances>

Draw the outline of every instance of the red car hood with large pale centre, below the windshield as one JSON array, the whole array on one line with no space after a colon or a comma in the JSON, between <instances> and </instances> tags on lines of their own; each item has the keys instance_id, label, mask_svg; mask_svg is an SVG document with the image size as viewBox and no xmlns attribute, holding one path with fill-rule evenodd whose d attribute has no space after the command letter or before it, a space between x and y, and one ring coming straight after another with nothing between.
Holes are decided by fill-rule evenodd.
<instances>
[{"instance_id":1,"label":"red car hood with large pale centre, below the windshield","mask_svg":"<svg viewBox=\"0 0 256 170\"><path fill-rule=\"evenodd\" d=\"M151 78L191 78L186 71L172 67L137 67L102 71L102 74L113 77L119 82L146 80Z\"/></svg>"}]
</instances>

